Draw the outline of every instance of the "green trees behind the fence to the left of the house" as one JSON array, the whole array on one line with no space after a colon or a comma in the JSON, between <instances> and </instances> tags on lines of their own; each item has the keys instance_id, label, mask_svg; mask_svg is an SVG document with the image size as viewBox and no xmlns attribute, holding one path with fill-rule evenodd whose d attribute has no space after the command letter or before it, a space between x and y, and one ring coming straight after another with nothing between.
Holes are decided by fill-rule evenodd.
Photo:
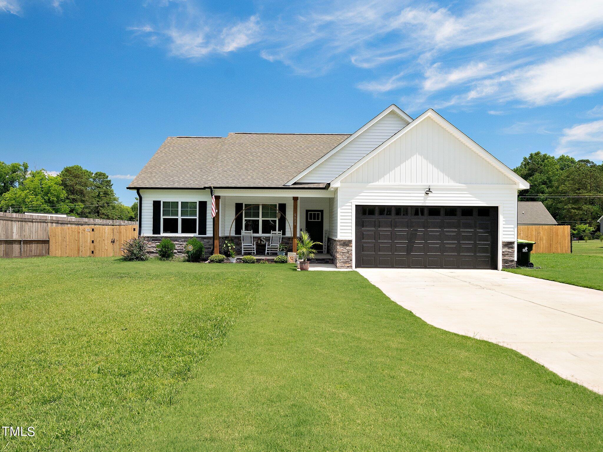
<instances>
[{"instance_id":1,"label":"green trees behind the fence to the left of the house","mask_svg":"<svg viewBox=\"0 0 603 452\"><path fill-rule=\"evenodd\" d=\"M80 165L66 166L58 175L30 171L27 163L0 162L0 210L4 212L66 213L84 218L135 220L138 202L125 206L106 173Z\"/></svg>"}]
</instances>

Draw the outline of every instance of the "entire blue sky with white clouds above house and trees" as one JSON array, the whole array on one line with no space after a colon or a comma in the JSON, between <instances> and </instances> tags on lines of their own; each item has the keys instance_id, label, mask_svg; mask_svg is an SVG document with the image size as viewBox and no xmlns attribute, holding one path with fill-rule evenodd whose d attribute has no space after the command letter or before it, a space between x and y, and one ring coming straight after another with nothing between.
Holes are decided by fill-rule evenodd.
<instances>
[{"instance_id":1,"label":"entire blue sky with white clouds above house and trees","mask_svg":"<svg viewBox=\"0 0 603 452\"><path fill-rule=\"evenodd\" d=\"M513 168L603 159L600 0L0 0L0 160L125 189L166 136L435 108Z\"/></svg>"}]
</instances>

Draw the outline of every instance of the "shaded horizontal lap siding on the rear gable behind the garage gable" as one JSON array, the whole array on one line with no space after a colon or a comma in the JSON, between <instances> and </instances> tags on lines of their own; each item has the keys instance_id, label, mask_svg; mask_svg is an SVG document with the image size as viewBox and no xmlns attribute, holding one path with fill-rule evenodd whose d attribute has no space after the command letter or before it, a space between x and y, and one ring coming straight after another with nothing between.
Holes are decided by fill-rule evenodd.
<instances>
[{"instance_id":1,"label":"shaded horizontal lap siding on the rear gable behind the garage gable","mask_svg":"<svg viewBox=\"0 0 603 452\"><path fill-rule=\"evenodd\" d=\"M408 125L406 119L400 118L396 113L390 112L371 127L359 134L335 154L331 155L308 174L300 178L299 182L327 183L346 171L368 152L379 146L393 136L400 129Z\"/></svg>"}]
</instances>

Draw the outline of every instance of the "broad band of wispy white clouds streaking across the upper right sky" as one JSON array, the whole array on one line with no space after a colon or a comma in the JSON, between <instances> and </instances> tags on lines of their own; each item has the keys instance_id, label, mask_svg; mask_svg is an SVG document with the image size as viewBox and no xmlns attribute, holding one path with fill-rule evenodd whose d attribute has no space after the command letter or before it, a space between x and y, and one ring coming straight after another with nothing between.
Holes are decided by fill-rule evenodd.
<instances>
[{"instance_id":1,"label":"broad band of wispy white clouds streaking across the upper right sky","mask_svg":"<svg viewBox=\"0 0 603 452\"><path fill-rule=\"evenodd\" d=\"M253 48L300 74L353 65L367 71L359 89L400 93L414 104L543 105L603 89L603 49L586 44L603 25L600 0L449 7L327 0L270 8L260 0L246 17L209 14L196 1L148 0L163 19L131 30L182 58Z\"/></svg>"}]
</instances>

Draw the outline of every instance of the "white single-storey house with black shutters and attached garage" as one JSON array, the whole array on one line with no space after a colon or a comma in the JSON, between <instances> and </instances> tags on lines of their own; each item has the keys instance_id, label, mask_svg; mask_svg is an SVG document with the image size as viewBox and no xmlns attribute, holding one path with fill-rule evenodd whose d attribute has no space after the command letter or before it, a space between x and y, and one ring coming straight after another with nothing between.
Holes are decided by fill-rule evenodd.
<instances>
[{"instance_id":1,"label":"white single-storey house with black shutters and attached garage","mask_svg":"<svg viewBox=\"0 0 603 452\"><path fill-rule=\"evenodd\" d=\"M140 234L180 249L280 230L295 250L306 230L339 267L500 269L528 187L434 110L391 105L351 135L169 137L128 188Z\"/></svg>"}]
</instances>

